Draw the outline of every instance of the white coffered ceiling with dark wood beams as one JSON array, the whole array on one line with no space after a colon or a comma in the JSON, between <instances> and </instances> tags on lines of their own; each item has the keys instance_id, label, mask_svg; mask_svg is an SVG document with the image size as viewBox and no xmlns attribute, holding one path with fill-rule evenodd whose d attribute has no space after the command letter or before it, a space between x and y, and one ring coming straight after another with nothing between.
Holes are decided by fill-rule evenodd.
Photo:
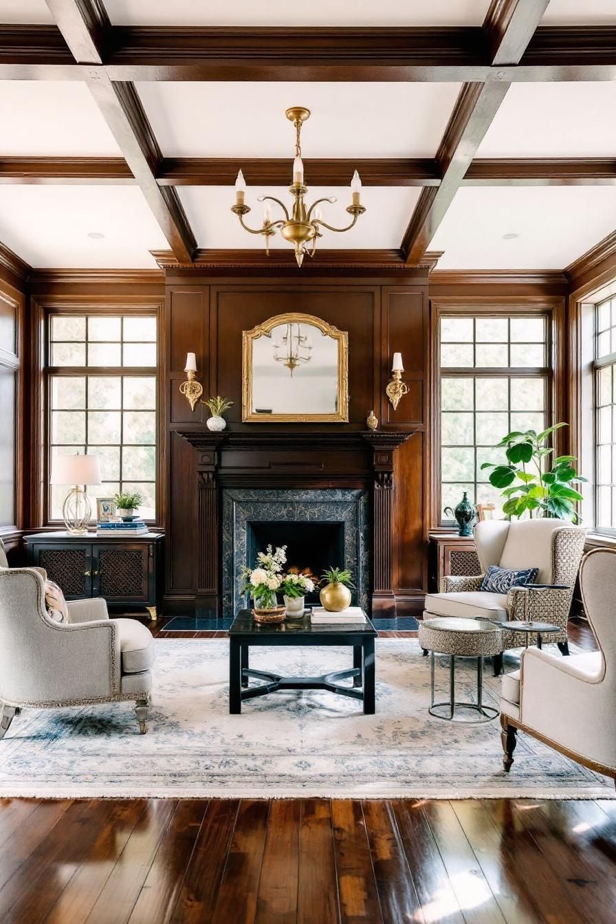
<instances>
[{"instance_id":1,"label":"white coffered ceiling with dark wood beams","mask_svg":"<svg viewBox=\"0 0 616 924\"><path fill-rule=\"evenodd\" d=\"M613 0L2 0L0 240L38 267L262 249L235 176L260 224L301 104L308 198L344 224L364 184L320 248L562 269L616 227L615 36Z\"/></svg>"}]
</instances>

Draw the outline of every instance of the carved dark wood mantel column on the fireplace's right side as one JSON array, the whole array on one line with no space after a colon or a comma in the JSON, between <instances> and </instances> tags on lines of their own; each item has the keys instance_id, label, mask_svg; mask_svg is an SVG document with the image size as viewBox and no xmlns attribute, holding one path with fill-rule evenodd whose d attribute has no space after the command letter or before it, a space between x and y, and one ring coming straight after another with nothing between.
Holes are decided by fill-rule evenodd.
<instances>
[{"instance_id":1,"label":"carved dark wood mantel column on the fireplace's right side","mask_svg":"<svg viewBox=\"0 0 616 924\"><path fill-rule=\"evenodd\" d=\"M372 613L395 615L393 593L393 453L412 432L368 431L362 436L372 446L374 490L372 502Z\"/></svg>"}]
</instances>

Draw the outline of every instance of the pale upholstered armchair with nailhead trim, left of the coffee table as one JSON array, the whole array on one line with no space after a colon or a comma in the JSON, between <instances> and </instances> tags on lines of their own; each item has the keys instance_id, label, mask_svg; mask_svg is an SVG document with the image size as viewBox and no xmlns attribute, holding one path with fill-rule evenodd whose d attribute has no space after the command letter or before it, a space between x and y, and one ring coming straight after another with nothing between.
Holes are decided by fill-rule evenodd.
<instances>
[{"instance_id":1,"label":"pale upholstered armchair with nailhead trim, left of the coffee table","mask_svg":"<svg viewBox=\"0 0 616 924\"><path fill-rule=\"evenodd\" d=\"M40 570L0 566L0 738L26 707L120 700L136 702L145 734L154 662L151 632L135 619L110 619L103 599L67 605L70 621L56 622L45 608Z\"/></svg>"}]
</instances>

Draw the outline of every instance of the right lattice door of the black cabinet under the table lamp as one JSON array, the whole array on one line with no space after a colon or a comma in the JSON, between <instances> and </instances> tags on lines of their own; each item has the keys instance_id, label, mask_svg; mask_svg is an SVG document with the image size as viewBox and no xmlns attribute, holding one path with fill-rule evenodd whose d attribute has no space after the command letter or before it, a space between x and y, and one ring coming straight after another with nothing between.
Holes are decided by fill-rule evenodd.
<instances>
[{"instance_id":1,"label":"right lattice door of the black cabinet under the table lamp","mask_svg":"<svg viewBox=\"0 0 616 924\"><path fill-rule=\"evenodd\" d=\"M94 596L109 601L148 601L150 556L147 546L130 542L108 546L100 543L94 546L93 554Z\"/></svg>"}]
</instances>

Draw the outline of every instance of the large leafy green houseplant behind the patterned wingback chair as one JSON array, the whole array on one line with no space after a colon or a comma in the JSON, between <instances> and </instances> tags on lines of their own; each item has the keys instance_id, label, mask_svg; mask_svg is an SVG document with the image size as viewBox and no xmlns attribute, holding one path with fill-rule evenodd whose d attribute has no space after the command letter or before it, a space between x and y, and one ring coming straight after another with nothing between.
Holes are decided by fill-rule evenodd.
<instances>
[{"instance_id":1,"label":"large leafy green houseplant behind the patterned wingback chair","mask_svg":"<svg viewBox=\"0 0 616 924\"><path fill-rule=\"evenodd\" d=\"M586 478L578 475L575 456L558 456L551 460L549 468L554 450L546 445L554 431L566 426L556 423L540 433L534 430L507 433L496 446L505 450L507 463L484 462L481 466L491 469L489 483L502 489L506 498L502 512L506 517L522 517L527 511L530 517L540 514L578 522L575 505L582 500L582 494L573 485Z\"/></svg>"}]
</instances>

